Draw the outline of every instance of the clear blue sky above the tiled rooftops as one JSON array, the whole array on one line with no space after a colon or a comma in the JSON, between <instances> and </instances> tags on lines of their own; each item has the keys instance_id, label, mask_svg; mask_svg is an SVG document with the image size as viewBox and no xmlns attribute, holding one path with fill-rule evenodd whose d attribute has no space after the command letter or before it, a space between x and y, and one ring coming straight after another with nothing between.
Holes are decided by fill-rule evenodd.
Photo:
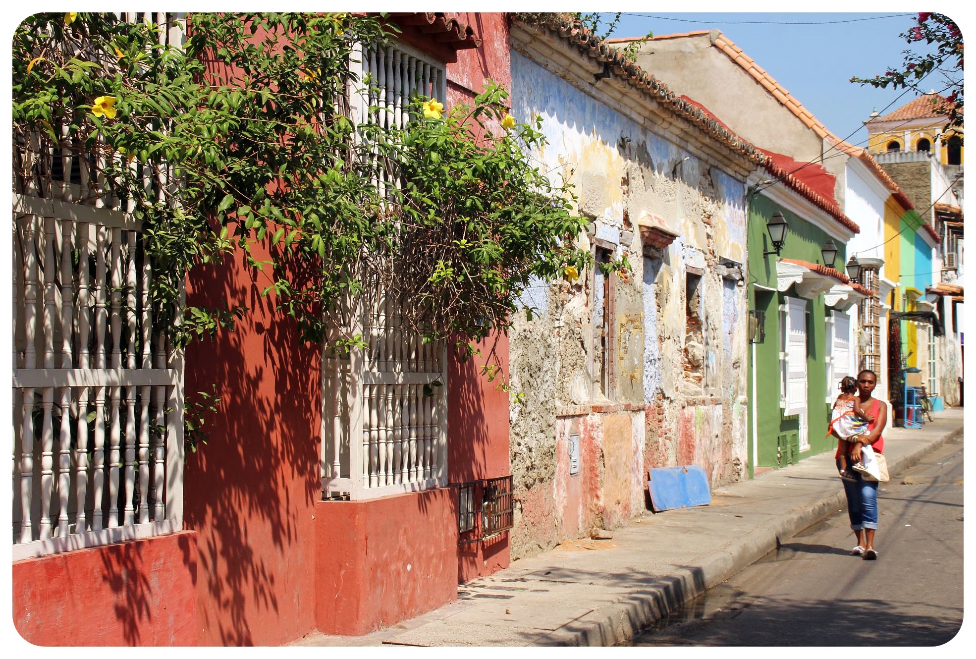
<instances>
[{"instance_id":1,"label":"clear blue sky above the tiled rooftops","mask_svg":"<svg viewBox=\"0 0 976 659\"><path fill-rule=\"evenodd\" d=\"M664 35L718 28L838 137L865 145L868 133L861 122L872 110L885 114L909 103L915 95L905 90L862 87L849 80L852 75L873 77L889 66L901 64L902 52L909 44L898 35L916 24L915 15L896 11L666 14L633 9L625 13L611 36L642 36L648 30ZM613 14L601 16L606 20L613 18ZM896 18L878 18L892 16ZM964 21L950 16L960 22L964 33ZM925 91L940 90L940 81L933 77L930 82ZM899 98L900 95L903 96Z\"/></svg>"}]
</instances>

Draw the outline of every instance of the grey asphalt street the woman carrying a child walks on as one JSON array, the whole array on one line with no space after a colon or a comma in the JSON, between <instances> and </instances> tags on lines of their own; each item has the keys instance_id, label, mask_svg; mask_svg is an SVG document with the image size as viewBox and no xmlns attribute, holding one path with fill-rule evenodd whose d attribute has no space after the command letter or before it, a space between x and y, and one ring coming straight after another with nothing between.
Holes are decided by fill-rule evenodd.
<instances>
[{"instance_id":1,"label":"grey asphalt street the woman carrying a child walks on","mask_svg":"<svg viewBox=\"0 0 976 659\"><path fill-rule=\"evenodd\" d=\"M962 465L960 436L882 484L876 561L850 555L838 511L627 644L949 641L962 623Z\"/></svg>"}]
</instances>

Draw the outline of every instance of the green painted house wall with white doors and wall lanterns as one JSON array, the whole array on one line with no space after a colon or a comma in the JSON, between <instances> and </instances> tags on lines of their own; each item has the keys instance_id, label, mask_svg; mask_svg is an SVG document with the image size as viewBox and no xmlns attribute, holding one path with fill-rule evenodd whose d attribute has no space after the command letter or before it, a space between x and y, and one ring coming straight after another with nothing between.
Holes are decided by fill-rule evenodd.
<instances>
[{"instance_id":1,"label":"green painted house wall with white doors and wall lanterns","mask_svg":"<svg viewBox=\"0 0 976 659\"><path fill-rule=\"evenodd\" d=\"M786 241L779 257L776 254L763 256L763 252L772 251L772 242L766 230L766 224L773 213L780 211L789 224ZM833 222L833 220L829 220ZM830 421L831 404L826 402L828 395L835 392L827 391L828 366L827 355L827 323L828 315L834 310L824 303L824 296L818 295L813 300L806 301L806 336L807 336L807 440L809 449L799 453L799 416L786 416L780 407L781 392L781 362L780 337L783 328L780 327L780 306L786 304L786 298L798 299L794 287L785 292L777 288L776 263L779 259L797 259L810 263L822 263L821 248L831 238L824 230L816 227L803 218L793 214L767 199L755 195L751 199L749 208L748 227L748 259L749 259L749 308L765 312L765 337L763 343L756 343L754 348L754 363L749 362L749 382L752 384L752 369L755 369L755 392L757 404L750 405L750 443L749 464L750 476L752 466L785 467L801 458L823 453L836 446L836 439L827 437ZM837 257L834 268L842 271L846 263L845 245L836 239ZM756 286L773 289L766 291ZM756 415L753 423L753 416ZM753 442L753 428L757 434L757 441ZM758 450L757 460L752 455L753 446Z\"/></svg>"}]
</instances>

